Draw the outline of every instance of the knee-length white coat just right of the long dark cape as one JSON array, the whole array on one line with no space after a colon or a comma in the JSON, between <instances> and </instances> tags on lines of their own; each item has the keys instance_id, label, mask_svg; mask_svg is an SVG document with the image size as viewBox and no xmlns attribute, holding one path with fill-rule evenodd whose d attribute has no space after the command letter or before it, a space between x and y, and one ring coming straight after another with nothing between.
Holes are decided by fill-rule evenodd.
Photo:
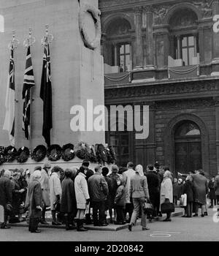
<instances>
[{"instance_id":1,"label":"knee-length white coat just right of the long dark cape","mask_svg":"<svg viewBox=\"0 0 219 256\"><path fill-rule=\"evenodd\" d=\"M86 200L90 197L88 194L88 183L85 179L84 173L78 173L78 175L74 179L74 190L77 201L77 209L85 210Z\"/></svg>"}]
</instances>

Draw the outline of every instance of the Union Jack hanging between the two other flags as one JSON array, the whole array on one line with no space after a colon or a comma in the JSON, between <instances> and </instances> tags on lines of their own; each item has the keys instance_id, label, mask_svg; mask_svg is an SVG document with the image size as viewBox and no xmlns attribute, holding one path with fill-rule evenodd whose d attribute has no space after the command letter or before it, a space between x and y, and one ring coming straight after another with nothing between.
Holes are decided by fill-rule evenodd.
<instances>
[{"instance_id":1,"label":"Union Jack hanging between the two other flags","mask_svg":"<svg viewBox=\"0 0 219 256\"><path fill-rule=\"evenodd\" d=\"M28 47L26 55L26 69L23 81L23 131L25 137L28 140L30 137L30 120L31 120L31 87L35 86L34 83L34 69L31 60L31 47Z\"/></svg>"}]
</instances>

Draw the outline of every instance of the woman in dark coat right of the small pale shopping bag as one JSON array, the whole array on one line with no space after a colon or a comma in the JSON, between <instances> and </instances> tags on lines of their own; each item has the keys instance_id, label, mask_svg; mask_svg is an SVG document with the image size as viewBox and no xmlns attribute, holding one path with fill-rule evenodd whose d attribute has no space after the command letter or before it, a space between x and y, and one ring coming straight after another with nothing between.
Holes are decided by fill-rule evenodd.
<instances>
[{"instance_id":1,"label":"woman in dark coat right of the small pale shopping bag","mask_svg":"<svg viewBox=\"0 0 219 256\"><path fill-rule=\"evenodd\" d=\"M196 188L193 184L192 176L188 175L185 184L183 185L183 194L187 195L187 204L185 207L185 217L191 218L192 217L192 206L194 202L194 198L196 197Z\"/></svg>"}]
</instances>

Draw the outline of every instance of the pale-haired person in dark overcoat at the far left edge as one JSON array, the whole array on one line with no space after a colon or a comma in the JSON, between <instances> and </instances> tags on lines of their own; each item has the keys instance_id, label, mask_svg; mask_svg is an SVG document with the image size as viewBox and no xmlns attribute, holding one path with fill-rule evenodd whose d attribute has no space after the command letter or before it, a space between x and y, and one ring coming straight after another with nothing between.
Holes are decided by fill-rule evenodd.
<instances>
[{"instance_id":1,"label":"pale-haired person in dark overcoat at the far left edge","mask_svg":"<svg viewBox=\"0 0 219 256\"><path fill-rule=\"evenodd\" d=\"M9 170L4 171L4 175L0 178L0 206L4 208L4 222L1 223L1 229L10 228L7 225L9 210L12 210L12 183L10 181L12 173Z\"/></svg>"}]
</instances>

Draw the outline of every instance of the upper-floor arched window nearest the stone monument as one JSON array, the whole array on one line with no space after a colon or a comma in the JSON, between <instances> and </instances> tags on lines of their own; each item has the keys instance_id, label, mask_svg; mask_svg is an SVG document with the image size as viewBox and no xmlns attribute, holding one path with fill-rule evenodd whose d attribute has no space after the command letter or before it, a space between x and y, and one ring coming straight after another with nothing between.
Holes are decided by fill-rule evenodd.
<instances>
[{"instance_id":1,"label":"upper-floor arched window nearest the stone monument","mask_svg":"<svg viewBox=\"0 0 219 256\"><path fill-rule=\"evenodd\" d=\"M125 18L116 18L107 26L103 54L108 72L131 71L130 30L131 25Z\"/></svg>"}]
</instances>

